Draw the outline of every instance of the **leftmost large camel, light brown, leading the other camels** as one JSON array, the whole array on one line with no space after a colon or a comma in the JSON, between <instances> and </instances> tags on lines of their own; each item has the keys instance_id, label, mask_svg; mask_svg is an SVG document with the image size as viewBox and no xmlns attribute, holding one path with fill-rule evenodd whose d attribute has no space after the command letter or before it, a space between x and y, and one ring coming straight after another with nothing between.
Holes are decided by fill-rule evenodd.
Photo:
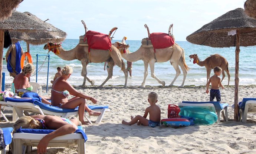
<instances>
[{"instance_id":1,"label":"leftmost large camel, light brown, leading the other camels","mask_svg":"<svg viewBox=\"0 0 256 154\"><path fill-rule=\"evenodd\" d=\"M100 62L108 62L109 71L108 71L108 77L106 80L100 85L102 87L113 75L113 67L114 64L119 66L121 70L124 72L125 75L125 84L124 87L127 86L127 78L128 78L128 72L125 69L125 63L122 59L122 55L120 54L119 50L115 46L111 46L112 51L108 50L101 50L101 49L90 49L90 55L88 53L88 46L81 46L76 45L75 48L65 51L60 44L53 44L48 43L44 46L44 49L48 49L52 52L58 52L59 54L56 54L58 57L60 57L63 60L66 61L72 61L74 59L78 59L82 63L82 72L81 75L84 77L82 87L85 87L86 79L90 83L94 83L94 81L87 78L87 69L86 66L88 62L94 62L94 63L100 63ZM93 84L92 84L93 85Z\"/></svg>"}]
</instances>

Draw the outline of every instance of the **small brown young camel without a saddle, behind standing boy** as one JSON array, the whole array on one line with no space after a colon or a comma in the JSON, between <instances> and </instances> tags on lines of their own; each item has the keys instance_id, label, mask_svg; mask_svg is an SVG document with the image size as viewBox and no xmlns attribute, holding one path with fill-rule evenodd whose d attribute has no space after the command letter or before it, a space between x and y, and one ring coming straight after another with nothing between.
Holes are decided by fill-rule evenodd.
<instances>
[{"instance_id":1,"label":"small brown young camel without a saddle, behind standing boy","mask_svg":"<svg viewBox=\"0 0 256 154\"><path fill-rule=\"evenodd\" d=\"M206 67L206 71L207 71L207 76L206 76L207 77L207 82L206 82L206 84L208 83L208 80L210 79L211 69L213 69L216 66L219 66L222 69L222 71L221 71L221 73L222 73L221 82L225 78L224 71L226 71L227 76L229 78L227 86L229 86L229 80L230 80L229 63L227 62L226 58L222 57L219 54L210 55L209 57L204 59L204 61L200 61L197 54L190 55L189 58L194 59L194 62L193 62L194 64Z\"/></svg>"}]
</instances>

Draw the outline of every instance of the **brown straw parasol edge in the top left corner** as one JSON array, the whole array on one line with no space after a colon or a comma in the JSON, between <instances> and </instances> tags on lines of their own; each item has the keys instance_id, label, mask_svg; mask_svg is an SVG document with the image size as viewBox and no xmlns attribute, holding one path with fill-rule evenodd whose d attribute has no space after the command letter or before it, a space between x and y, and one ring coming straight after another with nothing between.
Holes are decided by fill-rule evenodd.
<instances>
[{"instance_id":1,"label":"brown straw parasol edge in the top left corner","mask_svg":"<svg viewBox=\"0 0 256 154\"><path fill-rule=\"evenodd\" d=\"M19 6L23 0L0 0L0 21L12 16L12 11Z\"/></svg>"}]
</instances>

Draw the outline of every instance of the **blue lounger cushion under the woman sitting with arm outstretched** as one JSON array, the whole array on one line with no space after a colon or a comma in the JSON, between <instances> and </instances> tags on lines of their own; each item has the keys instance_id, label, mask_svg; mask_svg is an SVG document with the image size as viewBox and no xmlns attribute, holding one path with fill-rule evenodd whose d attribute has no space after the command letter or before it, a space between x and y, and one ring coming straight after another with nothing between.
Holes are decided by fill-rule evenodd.
<instances>
[{"instance_id":1,"label":"blue lounger cushion under the woman sitting with arm outstretched","mask_svg":"<svg viewBox=\"0 0 256 154\"><path fill-rule=\"evenodd\" d=\"M52 106L49 104L45 104L42 102L39 102L38 100L33 100L33 99L16 99L16 98L11 98L11 97L6 97L5 101L10 101L10 102L29 102L29 103L33 103L34 105L38 105L41 109L47 110L47 111L51 111L51 112L58 112L58 113L68 113L68 112L77 112L78 111L78 107L76 107L75 109L64 109L64 108L60 108L58 106ZM88 105L88 107L91 110L96 110L96 109L108 109L108 106L106 105Z\"/></svg>"}]
</instances>

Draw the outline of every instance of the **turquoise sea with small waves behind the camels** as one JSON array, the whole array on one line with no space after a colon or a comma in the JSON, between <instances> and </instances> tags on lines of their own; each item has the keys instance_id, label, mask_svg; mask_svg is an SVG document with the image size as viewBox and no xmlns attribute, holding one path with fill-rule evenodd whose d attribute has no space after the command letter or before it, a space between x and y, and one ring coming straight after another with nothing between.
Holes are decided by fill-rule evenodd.
<instances>
[{"instance_id":1,"label":"turquoise sea with small waves behind the camels","mask_svg":"<svg viewBox=\"0 0 256 154\"><path fill-rule=\"evenodd\" d=\"M121 40L112 40L112 42L121 41ZM70 50L74 48L78 44L78 39L66 39L62 42L62 47L65 50ZM129 50L131 52L136 51L140 45L141 40L138 41L129 41L126 40L126 43L130 45ZM227 59L229 62L229 71L230 71L230 85L234 85L234 71L235 71L235 47L230 48L212 48L202 45L191 44L187 41L177 41L180 47L184 48L186 63L190 67L190 71L188 71L187 78L184 85L206 85L206 68L198 66L197 64L193 64L193 59L190 61L188 57L191 54L197 54L198 57L203 61L205 58L209 57L212 54L220 54ZM26 42L20 42L23 47L23 50L26 51ZM33 64L36 66L36 55L37 54L47 54L47 50L43 49L44 45L30 45L30 54L33 58ZM3 56L5 57L7 49L4 49ZM69 82L72 85L81 85L83 82L83 77L81 76L82 65L78 60L73 61L64 61L59 58L53 52L50 52L50 61L49 61L49 85L50 80L53 79L56 68L58 66L69 65L73 68L73 73L69 78ZM46 60L45 60L46 59ZM126 62L126 60L124 59ZM42 66L42 68L38 69L37 82L40 84L46 85L47 83L47 65L48 58L46 56L38 57L38 67ZM90 79L95 80L95 85L101 85L102 82L105 81L108 73L104 71L104 62L103 63L91 63L87 67L88 69L88 77ZM6 61L3 61L3 72L6 73L5 83L12 83L13 77L9 76L9 72L6 68ZM256 84L256 46L253 47L240 47L240 59L239 59L239 85L252 85ZM226 73L226 72L225 72ZM155 64L155 75L161 80L165 81L165 85L170 85L175 76L175 70L173 66L171 66L170 62L164 63L156 63ZM211 72L213 75L213 71ZM220 76L221 77L221 76ZM132 64L132 77L128 76L128 86L140 86L144 78L144 64L143 61L133 62ZM30 81L36 81L36 75L30 78ZM183 81L183 73L181 71L180 76L178 76L174 85L180 86ZM114 66L113 77L106 82L105 85L124 85L125 78L124 73L120 72L120 68L118 66ZM223 80L223 84L227 85L227 75ZM86 81L86 85L91 85L88 81ZM159 86L154 78L150 76L150 68L148 70L148 77L145 85L150 86Z\"/></svg>"}]
</instances>

